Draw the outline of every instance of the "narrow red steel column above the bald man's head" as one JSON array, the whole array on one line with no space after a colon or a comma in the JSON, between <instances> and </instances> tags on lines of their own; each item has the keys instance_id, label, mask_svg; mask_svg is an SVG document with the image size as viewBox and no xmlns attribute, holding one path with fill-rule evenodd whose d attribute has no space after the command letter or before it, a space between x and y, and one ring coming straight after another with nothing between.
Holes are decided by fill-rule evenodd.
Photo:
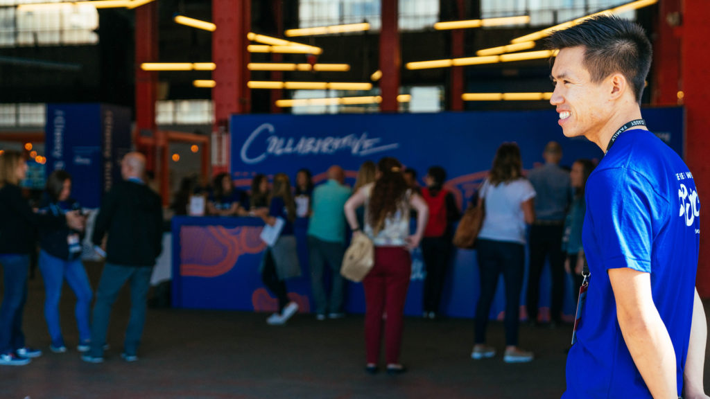
<instances>
[{"instance_id":1,"label":"narrow red steel column above the bald man's head","mask_svg":"<svg viewBox=\"0 0 710 399\"><path fill-rule=\"evenodd\" d=\"M141 70L143 62L158 61L158 2L136 8L136 147L146 154L148 170L155 170L155 152L141 146L141 136L155 135L158 72Z\"/></svg>"}]
</instances>

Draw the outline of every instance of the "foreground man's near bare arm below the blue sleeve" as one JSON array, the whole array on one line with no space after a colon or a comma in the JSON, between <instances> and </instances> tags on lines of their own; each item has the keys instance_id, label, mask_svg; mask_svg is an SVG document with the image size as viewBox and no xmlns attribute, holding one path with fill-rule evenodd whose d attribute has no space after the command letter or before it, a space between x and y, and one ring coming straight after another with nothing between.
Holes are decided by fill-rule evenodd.
<instances>
[{"instance_id":1,"label":"foreground man's near bare arm below the blue sleeve","mask_svg":"<svg viewBox=\"0 0 710 399\"><path fill-rule=\"evenodd\" d=\"M621 334L648 390L655 399L677 399L675 351L653 303L650 273L613 268L608 275Z\"/></svg>"}]
</instances>

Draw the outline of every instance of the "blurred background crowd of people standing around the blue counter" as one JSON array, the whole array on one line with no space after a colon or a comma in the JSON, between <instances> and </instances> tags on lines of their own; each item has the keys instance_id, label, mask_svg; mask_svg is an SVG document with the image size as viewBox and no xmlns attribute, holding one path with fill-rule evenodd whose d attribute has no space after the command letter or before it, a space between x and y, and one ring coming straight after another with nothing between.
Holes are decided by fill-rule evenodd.
<instances>
[{"instance_id":1,"label":"blurred background crowd of people standing around the blue counter","mask_svg":"<svg viewBox=\"0 0 710 399\"><path fill-rule=\"evenodd\" d=\"M23 178L23 160L19 156L8 152L3 157L4 161L16 163L6 165L8 170L16 169L16 176L14 180L6 179L4 187L16 185ZM532 360L532 352L518 348L518 306L523 288L524 246L528 236L526 226L532 225L531 240L535 237L540 243L540 248L531 248L530 251L529 304L533 302L537 305L537 297L531 297L530 292L534 290L537 295L542 268L540 265L535 268L538 273L532 273L533 262L545 261L545 253L540 256L538 249L548 252L551 265L563 263L568 273L581 275L580 268L584 263L580 238L580 218L584 217L582 194L584 181L591 173L593 164L590 160L577 160L571 172L564 170L558 165L562 148L555 142L547 144L543 158L545 165L532 170L528 179L523 175L518 146L503 143L493 159L488 178L481 183L479 195L476 196L479 203L485 204L486 216L477 246L481 296L476 307L473 359L489 358L496 353L495 349L485 345L486 324L498 275L503 273L506 282L507 345L504 359L508 362ZM86 220L77 210L80 207L70 197L72 177L63 170L52 173L39 209L33 212L27 206L24 212L27 221L31 222L24 225L39 231L40 270L45 281L45 317L50 350L58 353L67 351L59 327L58 311L61 287L66 280L77 295L75 315L80 332L77 349L84 353L82 359L93 363L103 361L111 305L126 282L131 285L131 319L122 356L129 361L137 359L150 266L154 265L155 257L160 253L160 199L143 183L145 160L138 153L130 153L121 165L124 182L116 185L106 196L94 225L92 241L99 248L97 251L105 250L107 264L99 281L92 315L94 293L80 259L80 243ZM377 371L381 334L384 334L387 371L401 373L404 368L398 359L411 274L410 251L417 246L422 250L427 272L422 317L427 319L439 317L444 281L454 251L452 236L461 212L453 192L445 185L446 170L437 165L430 167L422 177L423 186L417 181L416 171L405 168L395 158L383 158L377 164L369 160L363 163L354 188L345 184L345 173L339 165L332 165L326 175L327 180L314 185L310 171L301 169L297 172L295 187L292 187L288 175L284 173L276 174L272 182L266 175L257 174L253 177L250 192L234 187L227 173L216 175L212 185L185 179L172 207L176 214L187 213L190 197L197 195L207 199L204 203L207 214L251 216L263 219L268 226L278 224L278 239L266 247L259 269L263 285L278 300L278 310L267 319L268 324L272 325L285 324L299 310L297 303L289 299L287 288L288 279L301 274L293 225L297 217L309 219L307 248L310 283L318 320L344 317L346 284L339 268L349 234L366 234L376 248L375 265L363 281L366 369L371 373ZM8 192L8 189L0 192ZM555 207L557 209L551 210ZM139 214L143 217L138 218ZM547 214L553 214L555 219L545 218ZM410 231L411 219L416 221L413 233ZM542 231L536 232L538 227ZM141 234L131 234L130 231L140 231ZM108 240L104 239L105 235ZM28 234L24 245L29 247L32 242L33 236ZM135 248L135 251L121 251L120 248L126 247ZM553 266L553 274L564 273L562 269L561 265L559 268ZM7 273L9 268L4 270ZM329 281L324 281L326 276L329 276ZM553 281L557 278L564 278L564 275L555 275ZM26 282L14 285L22 287ZM553 323L559 322L561 317L562 308L556 307L554 301L557 298L562 300L562 290L561 285L553 284ZM6 290L6 296L11 294L11 290ZM4 301L4 304L9 306L11 301ZM534 322L537 322L536 310L528 310ZM21 314L21 306L15 312ZM383 315L386 317L383 318ZM28 362L30 356L40 354L40 351L18 342L21 345L3 346L9 363Z\"/></svg>"}]
</instances>

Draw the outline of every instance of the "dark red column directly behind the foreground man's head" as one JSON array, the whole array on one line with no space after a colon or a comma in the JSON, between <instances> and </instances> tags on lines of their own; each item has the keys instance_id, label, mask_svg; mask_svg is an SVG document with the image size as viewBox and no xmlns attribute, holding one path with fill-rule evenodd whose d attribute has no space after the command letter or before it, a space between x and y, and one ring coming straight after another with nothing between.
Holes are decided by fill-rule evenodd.
<instances>
[{"instance_id":1,"label":"dark red column directly behind the foreground man's head","mask_svg":"<svg viewBox=\"0 0 710 399\"><path fill-rule=\"evenodd\" d=\"M658 5L657 39L653 43L653 105L678 104L681 68L680 0L663 0Z\"/></svg>"}]
</instances>

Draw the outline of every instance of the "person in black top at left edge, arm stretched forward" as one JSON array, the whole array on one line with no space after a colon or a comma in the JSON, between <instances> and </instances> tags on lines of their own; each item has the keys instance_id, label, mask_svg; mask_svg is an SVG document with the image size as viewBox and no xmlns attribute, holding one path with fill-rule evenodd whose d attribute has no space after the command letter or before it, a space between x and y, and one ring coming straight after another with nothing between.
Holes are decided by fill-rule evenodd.
<instances>
[{"instance_id":1,"label":"person in black top at left edge, arm stretched forward","mask_svg":"<svg viewBox=\"0 0 710 399\"><path fill-rule=\"evenodd\" d=\"M23 366L42 351L25 346L22 311L27 301L30 253L35 248L38 226L82 229L84 219L77 212L35 214L19 187L27 174L21 153L6 150L0 155L0 264L4 294L0 306L0 365Z\"/></svg>"}]
</instances>

